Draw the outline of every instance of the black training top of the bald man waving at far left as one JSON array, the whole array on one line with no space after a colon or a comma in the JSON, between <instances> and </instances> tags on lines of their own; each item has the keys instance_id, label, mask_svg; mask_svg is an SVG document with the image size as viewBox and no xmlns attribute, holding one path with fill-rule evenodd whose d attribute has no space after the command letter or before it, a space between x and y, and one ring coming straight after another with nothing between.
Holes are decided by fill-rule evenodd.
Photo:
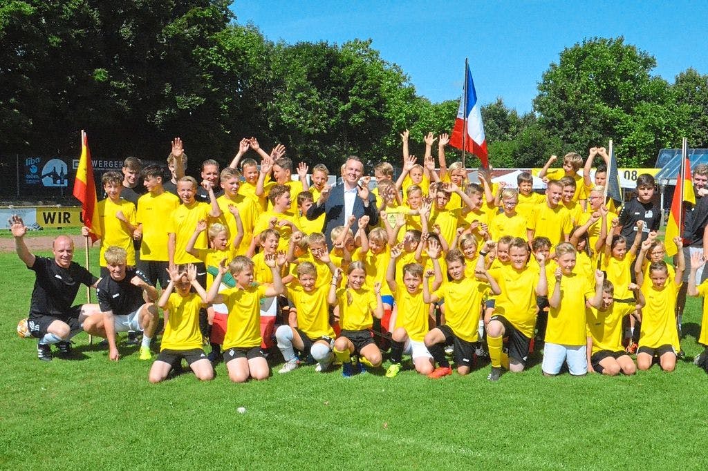
<instances>
[{"instance_id":1,"label":"black training top of the bald man waving at far left","mask_svg":"<svg viewBox=\"0 0 708 471\"><path fill-rule=\"evenodd\" d=\"M30 315L69 318L79 286L93 286L98 280L76 262L72 262L69 268L62 268L53 258L35 256L35 263L28 268L35 272Z\"/></svg>"}]
</instances>

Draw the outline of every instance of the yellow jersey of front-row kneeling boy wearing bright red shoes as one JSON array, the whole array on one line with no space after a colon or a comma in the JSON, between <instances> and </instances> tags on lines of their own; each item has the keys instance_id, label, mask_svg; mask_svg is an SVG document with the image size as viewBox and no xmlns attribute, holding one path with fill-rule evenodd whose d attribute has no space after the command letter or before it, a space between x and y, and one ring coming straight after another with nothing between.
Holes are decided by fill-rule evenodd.
<instances>
[{"instance_id":1,"label":"yellow jersey of front-row kneeling boy wearing bright red shoes","mask_svg":"<svg viewBox=\"0 0 708 471\"><path fill-rule=\"evenodd\" d=\"M435 291L438 299L445 299L445 325L465 342L479 340L479 316L484 298L489 296L489 284L474 278L448 281Z\"/></svg>"}]
</instances>

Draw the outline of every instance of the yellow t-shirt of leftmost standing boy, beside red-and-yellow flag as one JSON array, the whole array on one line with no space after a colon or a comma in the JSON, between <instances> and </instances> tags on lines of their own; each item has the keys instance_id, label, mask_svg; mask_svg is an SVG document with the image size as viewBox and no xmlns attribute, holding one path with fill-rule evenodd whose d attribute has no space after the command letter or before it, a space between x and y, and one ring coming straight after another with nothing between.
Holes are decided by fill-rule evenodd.
<instances>
[{"instance_id":1,"label":"yellow t-shirt of leftmost standing boy, beside red-and-yellow flag","mask_svg":"<svg viewBox=\"0 0 708 471\"><path fill-rule=\"evenodd\" d=\"M123 221L120 221L115 214L118 211L123 212L123 216L127 219L133 226L137 226L135 217L135 204L131 202L120 199L120 202L114 203L110 199L101 199L98 202L98 225L101 227L101 253L99 254L99 264L101 267L105 267L105 250L109 247L115 245L125 249L127 253L127 258L125 264L128 267L135 267L135 248L132 245L132 231L125 225ZM167 241L165 240L165 244Z\"/></svg>"}]
</instances>

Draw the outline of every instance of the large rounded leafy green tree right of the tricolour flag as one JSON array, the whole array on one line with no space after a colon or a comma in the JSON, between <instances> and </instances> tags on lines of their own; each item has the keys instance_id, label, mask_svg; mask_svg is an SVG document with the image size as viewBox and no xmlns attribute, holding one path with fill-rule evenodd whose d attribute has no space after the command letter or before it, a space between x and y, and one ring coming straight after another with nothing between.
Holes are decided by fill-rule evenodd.
<instances>
[{"instance_id":1,"label":"large rounded leafy green tree right of the tricolour flag","mask_svg":"<svg viewBox=\"0 0 708 471\"><path fill-rule=\"evenodd\" d=\"M566 48L539 83L539 124L580 153L614 139L622 165L644 165L680 140L686 119L668 83L651 75L655 66L656 59L622 37Z\"/></svg>"}]
</instances>

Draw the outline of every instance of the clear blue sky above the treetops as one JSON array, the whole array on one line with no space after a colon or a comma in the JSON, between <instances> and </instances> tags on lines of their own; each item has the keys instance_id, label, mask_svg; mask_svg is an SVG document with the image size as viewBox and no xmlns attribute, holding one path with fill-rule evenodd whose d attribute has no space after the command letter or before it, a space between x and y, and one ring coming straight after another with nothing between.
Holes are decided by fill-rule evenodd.
<instances>
[{"instance_id":1,"label":"clear blue sky above the treetops","mask_svg":"<svg viewBox=\"0 0 708 471\"><path fill-rule=\"evenodd\" d=\"M258 1L232 4L238 23L287 43L372 39L433 102L462 93L469 57L478 98L532 109L537 83L584 38L624 36L656 57L673 83L692 66L708 74L706 1Z\"/></svg>"}]
</instances>

